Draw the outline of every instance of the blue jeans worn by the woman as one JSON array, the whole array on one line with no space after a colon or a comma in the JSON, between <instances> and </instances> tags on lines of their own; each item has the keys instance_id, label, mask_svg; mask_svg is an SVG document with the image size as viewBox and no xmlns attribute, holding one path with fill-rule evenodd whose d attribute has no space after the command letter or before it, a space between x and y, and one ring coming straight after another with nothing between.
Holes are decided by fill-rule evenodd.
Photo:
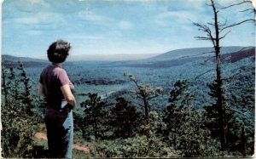
<instances>
[{"instance_id":1,"label":"blue jeans worn by the woman","mask_svg":"<svg viewBox=\"0 0 256 159\"><path fill-rule=\"evenodd\" d=\"M73 150L73 112L65 103L61 109L46 108L45 124L47 129L50 158L72 158Z\"/></svg>"}]
</instances>

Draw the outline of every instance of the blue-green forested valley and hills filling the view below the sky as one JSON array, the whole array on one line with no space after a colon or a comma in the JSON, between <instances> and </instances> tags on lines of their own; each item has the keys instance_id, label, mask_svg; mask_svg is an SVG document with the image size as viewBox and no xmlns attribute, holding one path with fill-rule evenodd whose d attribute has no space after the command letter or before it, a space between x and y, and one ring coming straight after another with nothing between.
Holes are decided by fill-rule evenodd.
<instances>
[{"instance_id":1,"label":"blue-green forested valley and hills filling the view below the sky","mask_svg":"<svg viewBox=\"0 0 256 159\"><path fill-rule=\"evenodd\" d=\"M64 63L79 103L75 141L90 143L90 153L74 157L252 156L255 48L228 47L221 56L227 150L214 107L216 61L194 56L208 49L178 50L176 58L173 51L148 60ZM45 144L32 136L45 131L36 88L49 62L2 60L3 156L46 157Z\"/></svg>"}]
</instances>

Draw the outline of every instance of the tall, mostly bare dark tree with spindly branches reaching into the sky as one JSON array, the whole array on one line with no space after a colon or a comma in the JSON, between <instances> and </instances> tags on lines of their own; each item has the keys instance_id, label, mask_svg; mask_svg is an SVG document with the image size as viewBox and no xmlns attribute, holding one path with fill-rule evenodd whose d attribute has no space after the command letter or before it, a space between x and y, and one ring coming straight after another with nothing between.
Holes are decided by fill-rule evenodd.
<instances>
[{"instance_id":1,"label":"tall, mostly bare dark tree with spindly branches reaching into the sky","mask_svg":"<svg viewBox=\"0 0 256 159\"><path fill-rule=\"evenodd\" d=\"M236 3L234 5L239 5L240 3ZM228 7L218 9L218 3L214 0L210 0L210 3L207 4L212 8L212 22L207 22L205 24L194 23L195 26L199 28L199 31L203 31L206 33L205 37L198 36L196 37L199 40L207 40L212 43L214 48L213 52L210 54L214 54L215 57L215 80L209 85L211 92L209 93L212 97L216 98L216 102L212 104L212 108L208 108L208 112L211 110L215 110L216 122L218 122L218 134L221 141L221 150L228 150L229 145L229 126L228 126L228 116L229 112L227 112L227 103L226 103L226 93L224 91L224 75L223 75L223 67L221 62L221 41L230 33L227 31L231 27L239 26L247 21L255 21L253 19L242 20L233 24L225 22L221 22L219 14L222 9L228 9L234 5L230 5ZM246 10L245 10L246 11ZM253 14L255 13L255 9L253 9ZM207 54L207 53L203 53ZM209 53L208 53L209 54Z\"/></svg>"}]
</instances>

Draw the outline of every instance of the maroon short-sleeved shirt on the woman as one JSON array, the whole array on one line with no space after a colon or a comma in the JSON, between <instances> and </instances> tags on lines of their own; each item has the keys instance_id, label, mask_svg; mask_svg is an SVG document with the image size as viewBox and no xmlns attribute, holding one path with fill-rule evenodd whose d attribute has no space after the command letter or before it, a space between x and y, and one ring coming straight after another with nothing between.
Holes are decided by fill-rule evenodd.
<instances>
[{"instance_id":1,"label":"maroon short-sleeved shirt on the woman","mask_svg":"<svg viewBox=\"0 0 256 159\"><path fill-rule=\"evenodd\" d=\"M74 89L67 72L56 65L49 65L44 68L39 82L44 86L44 94L49 108L60 108L61 102L66 100L61 92L61 86L69 84L71 90Z\"/></svg>"}]
</instances>

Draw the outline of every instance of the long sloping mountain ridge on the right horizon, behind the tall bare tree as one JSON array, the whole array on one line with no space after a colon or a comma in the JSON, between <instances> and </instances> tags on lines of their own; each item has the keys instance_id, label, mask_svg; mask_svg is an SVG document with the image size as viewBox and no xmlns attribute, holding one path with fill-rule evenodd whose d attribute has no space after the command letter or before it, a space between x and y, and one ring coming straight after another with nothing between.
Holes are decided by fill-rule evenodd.
<instances>
[{"instance_id":1,"label":"long sloping mountain ridge on the right horizon, behind the tall bare tree","mask_svg":"<svg viewBox=\"0 0 256 159\"><path fill-rule=\"evenodd\" d=\"M197 50L197 51L196 51ZM198 52L200 50L201 52ZM117 66L127 66L127 67L144 67L144 68L167 68L172 66L185 65L191 62L202 62L205 60L214 61L214 53L210 56L206 56L206 52L211 52L212 48L191 48L185 49L184 52L181 50L174 50L172 52L167 52L166 54L160 54L154 58L149 58L148 60L136 60L131 62L117 62L114 65ZM173 54L177 54L173 57ZM200 55L195 55L200 54ZM245 58L255 56L254 47L236 47L236 48L223 48L221 60L223 62L234 63L238 60L243 60Z\"/></svg>"}]
</instances>

